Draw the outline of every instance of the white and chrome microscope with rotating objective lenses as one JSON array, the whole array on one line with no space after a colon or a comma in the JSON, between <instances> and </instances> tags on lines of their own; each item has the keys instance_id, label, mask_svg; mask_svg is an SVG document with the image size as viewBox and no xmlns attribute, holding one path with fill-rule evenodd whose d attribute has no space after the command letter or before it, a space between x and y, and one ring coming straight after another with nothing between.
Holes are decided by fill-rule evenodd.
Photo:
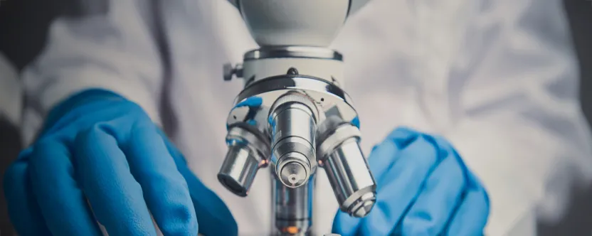
<instances>
[{"instance_id":1,"label":"white and chrome microscope with rotating objective lenses","mask_svg":"<svg viewBox=\"0 0 592 236\"><path fill-rule=\"evenodd\" d=\"M327 173L340 210L356 218L376 202L376 181L359 146L359 120L343 90L343 57L328 48L368 0L230 0L260 48L224 65L243 78L228 114L228 152L218 180L245 197L271 171L273 235L315 235L315 174Z\"/></svg>"}]
</instances>

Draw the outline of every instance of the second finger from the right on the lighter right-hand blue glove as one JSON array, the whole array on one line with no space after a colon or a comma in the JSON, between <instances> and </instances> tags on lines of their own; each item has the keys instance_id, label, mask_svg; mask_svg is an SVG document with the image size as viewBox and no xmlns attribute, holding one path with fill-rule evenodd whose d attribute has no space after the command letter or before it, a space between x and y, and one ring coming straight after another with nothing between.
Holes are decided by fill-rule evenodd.
<instances>
[{"instance_id":1,"label":"second finger from the right on the lighter right-hand blue glove","mask_svg":"<svg viewBox=\"0 0 592 236\"><path fill-rule=\"evenodd\" d=\"M465 173L453 151L440 150L446 156L425 181L421 194L404 216L403 235L438 235L465 191Z\"/></svg>"}]
</instances>

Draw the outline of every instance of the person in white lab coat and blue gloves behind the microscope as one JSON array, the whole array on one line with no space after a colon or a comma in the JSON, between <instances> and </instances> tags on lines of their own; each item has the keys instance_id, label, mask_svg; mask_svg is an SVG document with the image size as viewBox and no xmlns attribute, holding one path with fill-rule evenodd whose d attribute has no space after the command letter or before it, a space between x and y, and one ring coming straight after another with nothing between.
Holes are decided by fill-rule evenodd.
<instances>
[{"instance_id":1,"label":"person in white lab coat and blue gloves behind the microscope","mask_svg":"<svg viewBox=\"0 0 592 236\"><path fill-rule=\"evenodd\" d=\"M98 221L109 235L156 235L152 213L164 235L268 234L268 171L248 198L216 179L241 86L221 65L257 48L235 7L90 6L52 23L22 75L28 148L4 183L18 233L99 235ZM373 0L332 47L378 200L364 219L336 215L319 171L317 233L535 235L591 180L561 1Z\"/></svg>"}]
</instances>

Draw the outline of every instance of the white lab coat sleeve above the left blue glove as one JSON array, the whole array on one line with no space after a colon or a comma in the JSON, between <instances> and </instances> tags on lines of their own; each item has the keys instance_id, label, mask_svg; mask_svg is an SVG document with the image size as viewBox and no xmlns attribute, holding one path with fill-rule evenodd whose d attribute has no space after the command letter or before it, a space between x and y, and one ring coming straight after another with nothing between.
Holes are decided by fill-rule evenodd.
<instances>
[{"instance_id":1,"label":"white lab coat sleeve above the left blue glove","mask_svg":"<svg viewBox=\"0 0 592 236\"><path fill-rule=\"evenodd\" d=\"M26 144L54 105L90 88L117 92L160 122L157 100L163 68L148 2L105 0L106 11L51 23L45 48L22 73Z\"/></svg>"}]
</instances>

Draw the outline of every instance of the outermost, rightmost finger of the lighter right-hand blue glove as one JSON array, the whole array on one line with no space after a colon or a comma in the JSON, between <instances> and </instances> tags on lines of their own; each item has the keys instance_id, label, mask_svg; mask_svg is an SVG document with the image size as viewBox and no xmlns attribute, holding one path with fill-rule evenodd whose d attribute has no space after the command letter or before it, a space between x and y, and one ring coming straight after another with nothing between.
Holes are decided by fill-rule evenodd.
<instances>
[{"instance_id":1,"label":"outermost, rightmost finger of the lighter right-hand blue glove","mask_svg":"<svg viewBox=\"0 0 592 236\"><path fill-rule=\"evenodd\" d=\"M490 200L485 189L475 176L470 175L471 183L464 200L450 220L446 235L482 235L490 214Z\"/></svg>"}]
</instances>

